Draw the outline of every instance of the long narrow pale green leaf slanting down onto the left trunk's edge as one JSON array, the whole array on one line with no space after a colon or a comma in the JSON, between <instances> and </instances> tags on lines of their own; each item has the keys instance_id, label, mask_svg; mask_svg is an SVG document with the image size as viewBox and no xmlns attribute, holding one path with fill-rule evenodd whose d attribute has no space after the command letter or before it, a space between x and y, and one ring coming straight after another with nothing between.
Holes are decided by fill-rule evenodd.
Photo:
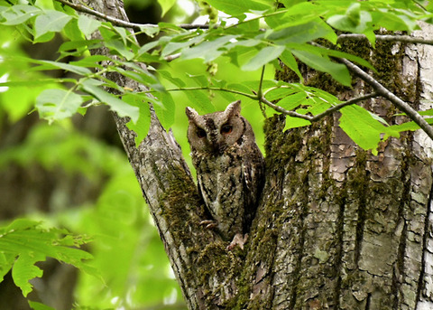
<instances>
[{"instance_id":1,"label":"long narrow pale green leaf slanting down onto the left trunk's edge","mask_svg":"<svg viewBox=\"0 0 433 310\"><path fill-rule=\"evenodd\" d=\"M81 84L81 88L93 95L100 102L106 103L113 111L115 111L119 117L131 117L134 123L138 121L140 117L140 110L137 107L131 106L121 99L116 98L114 95L101 89L101 82L98 80L88 79L84 80Z\"/></svg>"}]
</instances>

